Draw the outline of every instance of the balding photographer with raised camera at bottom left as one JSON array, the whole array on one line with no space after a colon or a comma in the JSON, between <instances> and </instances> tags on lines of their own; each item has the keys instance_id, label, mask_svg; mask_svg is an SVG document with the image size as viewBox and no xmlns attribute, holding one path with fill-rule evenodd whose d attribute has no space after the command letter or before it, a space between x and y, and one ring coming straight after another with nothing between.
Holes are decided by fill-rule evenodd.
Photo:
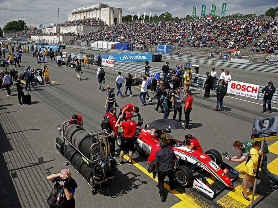
<instances>
[{"instance_id":1,"label":"balding photographer with raised camera at bottom left","mask_svg":"<svg viewBox=\"0 0 278 208\"><path fill-rule=\"evenodd\" d=\"M51 174L46 179L52 181L52 183L56 182L54 188L61 189L52 208L74 208L75 200L73 195L77 188L77 183L71 177L71 171L62 169L61 173Z\"/></svg>"}]
</instances>

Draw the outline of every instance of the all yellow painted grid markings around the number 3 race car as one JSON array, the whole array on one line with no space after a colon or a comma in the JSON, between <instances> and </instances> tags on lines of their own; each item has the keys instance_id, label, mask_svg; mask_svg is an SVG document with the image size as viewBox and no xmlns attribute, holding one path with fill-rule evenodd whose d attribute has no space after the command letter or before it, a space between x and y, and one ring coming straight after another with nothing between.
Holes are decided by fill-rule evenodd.
<instances>
[{"instance_id":1,"label":"all yellow painted grid markings around the number 3 race car","mask_svg":"<svg viewBox=\"0 0 278 208\"><path fill-rule=\"evenodd\" d=\"M272 145L270 145L268 147L269 151L275 154L278 154L278 141L274 142ZM129 160L129 157L124 155L124 158L126 160ZM141 170L143 173L145 173L146 175L148 175L150 178L152 178L152 173L149 173L144 167L142 167L140 164L136 163L135 161L133 161L133 165L135 167L137 167L139 170ZM274 173L276 175L278 175L278 158L274 159L272 162L270 162L268 164L268 170L271 171L271 173ZM237 170L239 172L239 178L241 178L241 180L244 179L245 177L245 172L243 171L245 166L245 161L242 162L241 164L239 164L238 166L235 167L235 170ZM158 182L158 178L155 177L156 182ZM214 181L216 181L216 178L214 176L211 176L210 178L207 178L207 181L209 182L209 184L212 184ZM235 181L236 184L238 184L233 190L231 190L229 193L227 193L226 195L224 195L221 199L219 199L218 201L216 201L217 204L219 204L222 207L225 208L246 208L250 205L250 201L247 201L245 198L243 198L242 196L242 191L243 191L243 187L241 184L237 183ZM179 199L181 199L180 202L178 202L177 204L173 205L171 208L180 208L180 207L188 207L188 208L208 208L211 205L207 202L205 202L204 200L202 200L201 198L199 198L197 195L187 192L187 193L179 193L176 190L170 190L170 186L166 183L164 183L164 187L171 192L172 194L174 194L176 197L178 197ZM247 189L247 194L248 197L251 198L252 197L252 191ZM259 194L255 193L254 196L254 201L259 197Z\"/></svg>"}]
</instances>

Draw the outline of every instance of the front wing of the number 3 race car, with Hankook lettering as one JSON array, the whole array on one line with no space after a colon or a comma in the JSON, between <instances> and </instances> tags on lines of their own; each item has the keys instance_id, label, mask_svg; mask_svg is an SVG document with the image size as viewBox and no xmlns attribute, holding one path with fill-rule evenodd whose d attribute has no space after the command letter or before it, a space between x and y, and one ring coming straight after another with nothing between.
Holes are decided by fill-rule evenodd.
<instances>
[{"instance_id":1,"label":"front wing of the number 3 race car, with Hankook lettering","mask_svg":"<svg viewBox=\"0 0 278 208\"><path fill-rule=\"evenodd\" d=\"M230 185L232 185L232 183L237 179L239 172L223 161L221 162L220 168L231 179ZM210 200L218 195L225 187L227 186L219 180L214 181L212 184L209 184L205 178L202 178L202 181L195 178L193 181L193 189Z\"/></svg>"}]
</instances>

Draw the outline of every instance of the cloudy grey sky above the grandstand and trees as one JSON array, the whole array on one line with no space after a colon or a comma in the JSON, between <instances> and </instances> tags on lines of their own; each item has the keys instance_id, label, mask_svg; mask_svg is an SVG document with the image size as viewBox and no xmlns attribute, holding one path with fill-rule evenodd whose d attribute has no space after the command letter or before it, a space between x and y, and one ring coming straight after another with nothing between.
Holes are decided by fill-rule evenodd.
<instances>
[{"instance_id":1,"label":"cloudy grey sky above the grandstand and trees","mask_svg":"<svg viewBox=\"0 0 278 208\"><path fill-rule=\"evenodd\" d=\"M58 24L58 10L60 10L60 21L67 21L67 15L71 13L72 9L98 4L100 1L83 0L80 1L81 4L77 4L76 0L67 1L57 1L57 0L47 0L47 1L37 1L37 0L0 0L0 27L3 28L7 22L25 18L26 24L34 25L39 27L39 24L44 24L53 22ZM206 13L211 10L211 4L216 4L216 14L220 14L221 5L223 1L216 0L122 0L120 2L116 1L103 1L102 3L108 4L110 7L123 8L123 16L132 15L134 12L136 15L138 12L143 14L144 10L149 14L149 10L152 11L152 15L160 15L164 12L169 12L173 17L186 17L187 15L192 15L192 5L197 7L197 15L201 14L201 5L205 4ZM226 14L242 13L242 14L262 14L270 7L277 7L277 0L227 0Z\"/></svg>"}]
</instances>

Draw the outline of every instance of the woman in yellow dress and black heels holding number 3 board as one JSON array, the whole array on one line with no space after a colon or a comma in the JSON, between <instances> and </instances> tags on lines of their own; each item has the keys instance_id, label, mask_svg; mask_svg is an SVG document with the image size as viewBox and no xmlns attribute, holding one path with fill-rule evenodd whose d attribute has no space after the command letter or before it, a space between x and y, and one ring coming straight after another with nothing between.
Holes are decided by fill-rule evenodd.
<instances>
[{"instance_id":1,"label":"woman in yellow dress and black heels holding number 3 board","mask_svg":"<svg viewBox=\"0 0 278 208\"><path fill-rule=\"evenodd\" d=\"M252 188L254 187L254 179L256 176L256 172L259 171L259 170L257 170L258 162L259 162L259 155L264 154L264 152L262 150L260 150L261 143L262 143L262 141L254 142L254 144L252 145L252 147L249 150L249 154L250 154L251 158L243 169L243 171L245 171L246 174L245 174L245 178L242 182L242 187L243 187L242 195L247 201L250 201L250 199L248 198L247 191L246 191L247 184L250 181ZM264 143L264 147L265 147L265 143ZM262 158L261 158L259 167L261 166L261 164L262 164ZM256 192L256 190L255 190L255 192Z\"/></svg>"}]
</instances>

